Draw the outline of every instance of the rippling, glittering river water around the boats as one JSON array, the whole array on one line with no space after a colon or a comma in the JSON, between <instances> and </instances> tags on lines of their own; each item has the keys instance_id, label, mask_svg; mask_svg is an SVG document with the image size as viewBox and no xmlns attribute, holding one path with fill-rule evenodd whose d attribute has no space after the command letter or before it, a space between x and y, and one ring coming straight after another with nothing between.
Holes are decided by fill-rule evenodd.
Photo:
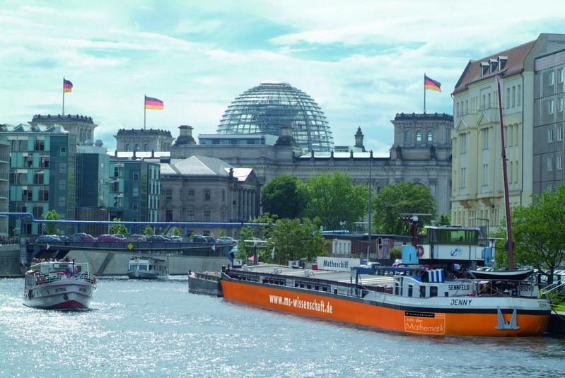
<instances>
[{"instance_id":1,"label":"rippling, glittering river water around the boats","mask_svg":"<svg viewBox=\"0 0 565 378\"><path fill-rule=\"evenodd\" d=\"M410 336L98 280L88 312L22 305L0 279L0 377L564 377L565 338Z\"/></svg>"}]
</instances>

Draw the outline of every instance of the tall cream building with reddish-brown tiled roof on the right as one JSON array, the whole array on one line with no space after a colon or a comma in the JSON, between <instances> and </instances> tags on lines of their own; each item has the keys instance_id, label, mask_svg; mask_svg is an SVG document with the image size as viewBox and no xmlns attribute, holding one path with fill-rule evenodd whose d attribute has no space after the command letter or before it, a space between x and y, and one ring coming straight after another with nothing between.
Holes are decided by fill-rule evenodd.
<instances>
[{"instance_id":1,"label":"tall cream building with reddish-brown tiled roof on the right","mask_svg":"<svg viewBox=\"0 0 565 378\"><path fill-rule=\"evenodd\" d=\"M504 216L496 76L501 81L510 203L531 203L534 60L564 44L565 35L542 34L465 67L453 91L453 224L482 225L493 231Z\"/></svg>"}]
</instances>

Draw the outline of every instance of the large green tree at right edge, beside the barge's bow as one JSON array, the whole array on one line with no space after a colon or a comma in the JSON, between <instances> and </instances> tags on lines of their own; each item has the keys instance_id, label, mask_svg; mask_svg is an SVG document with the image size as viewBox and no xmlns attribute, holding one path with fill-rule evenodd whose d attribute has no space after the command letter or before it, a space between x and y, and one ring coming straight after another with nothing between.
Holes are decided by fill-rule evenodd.
<instances>
[{"instance_id":1,"label":"large green tree at right edge, beside the barge's bow","mask_svg":"<svg viewBox=\"0 0 565 378\"><path fill-rule=\"evenodd\" d=\"M555 268L565 259L565 186L534 196L529 206L512 208L511 221L516 263L533 266L552 283ZM502 228L501 236L506 240ZM503 249L496 255L496 262L507 266L507 256ZM544 273L546 269L549 273Z\"/></svg>"}]
</instances>

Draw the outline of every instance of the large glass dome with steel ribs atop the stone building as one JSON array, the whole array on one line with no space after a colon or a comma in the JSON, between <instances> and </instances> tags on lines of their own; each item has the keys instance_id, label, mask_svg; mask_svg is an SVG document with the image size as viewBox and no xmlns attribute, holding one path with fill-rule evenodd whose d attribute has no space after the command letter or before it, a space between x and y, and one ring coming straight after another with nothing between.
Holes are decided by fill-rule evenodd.
<instances>
[{"instance_id":1,"label":"large glass dome with steel ribs atop the stone building","mask_svg":"<svg viewBox=\"0 0 565 378\"><path fill-rule=\"evenodd\" d=\"M261 83L246 90L223 114L217 132L278 136L279 128L287 125L303 150L332 150L332 131L318 104L287 83Z\"/></svg>"}]
</instances>

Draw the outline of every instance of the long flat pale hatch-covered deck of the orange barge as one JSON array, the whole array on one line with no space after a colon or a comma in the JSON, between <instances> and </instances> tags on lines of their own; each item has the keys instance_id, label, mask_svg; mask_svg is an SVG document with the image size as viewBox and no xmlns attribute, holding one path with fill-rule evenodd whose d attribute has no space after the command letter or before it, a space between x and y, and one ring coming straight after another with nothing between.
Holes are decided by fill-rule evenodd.
<instances>
[{"instance_id":1,"label":"long flat pale hatch-covered deck of the orange barge","mask_svg":"<svg viewBox=\"0 0 565 378\"><path fill-rule=\"evenodd\" d=\"M302 269L302 268L289 268L284 265L276 264L260 264L260 265L250 265L245 266L245 268L235 268L238 270L252 271L257 273L275 273L282 276L291 277L305 277L308 274L308 278L318 278L320 280L330 280L342 283L350 283L351 279L355 281L355 278L351 278L349 272L340 271L320 271L312 269ZM359 274L359 283L363 285L391 285L392 276L376 276L374 274Z\"/></svg>"}]
</instances>

